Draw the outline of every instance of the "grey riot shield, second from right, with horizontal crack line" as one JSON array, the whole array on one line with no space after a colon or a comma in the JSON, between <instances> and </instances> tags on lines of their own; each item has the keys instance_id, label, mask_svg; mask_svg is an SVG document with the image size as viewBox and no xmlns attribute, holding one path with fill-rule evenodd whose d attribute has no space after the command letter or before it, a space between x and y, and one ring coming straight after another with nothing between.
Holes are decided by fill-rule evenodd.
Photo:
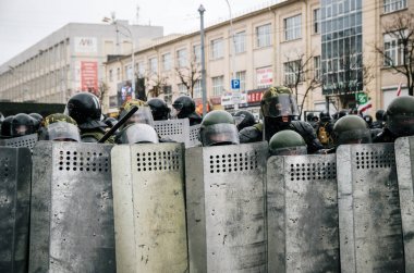
<instances>
[{"instance_id":1,"label":"grey riot shield, second from right, with horizontal crack line","mask_svg":"<svg viewBox=\"0 0 414 273\"><path fill-rule=\"evenodd\" d=\"M393 144L337 150L342 272L404 272Z\"/></svg>"}]
</instances>

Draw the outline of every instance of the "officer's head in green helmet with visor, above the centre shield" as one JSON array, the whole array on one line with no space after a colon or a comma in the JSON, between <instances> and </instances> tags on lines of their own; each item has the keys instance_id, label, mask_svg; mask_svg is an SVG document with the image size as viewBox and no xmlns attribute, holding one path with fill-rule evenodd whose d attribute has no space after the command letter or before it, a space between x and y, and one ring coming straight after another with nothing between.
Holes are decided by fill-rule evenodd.
<instances>
[{"instance_id":1,"label":"officer's head in green helmet with visor, above the centre shield","mask_svg":"<svg viewBox=\"0 0 414 273\"><path fill-rule=\"evenodd\" d=\"M199 140L203 146L240 144L233 116L223 110L206 114L199 128Z\"/></svg>"}]
</instances>

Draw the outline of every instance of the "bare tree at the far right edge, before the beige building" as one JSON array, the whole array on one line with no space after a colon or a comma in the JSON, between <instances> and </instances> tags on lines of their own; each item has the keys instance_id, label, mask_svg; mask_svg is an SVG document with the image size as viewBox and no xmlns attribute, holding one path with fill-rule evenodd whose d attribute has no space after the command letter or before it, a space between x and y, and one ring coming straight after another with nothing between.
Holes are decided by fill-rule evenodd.
<instances>
[{"instance_id":1,"label":"bare tree at the far right edge, before the beige building","mask_svg":"<svg viewBox=\"0 0 414 273\"><path fill-rule=\"evenodd\" d=\"M375 46L375 51L383 59L383 64L394 74L406 78L409 95L414 92L414 13L398 13L382 25L382 30L391 40L397 41L397 54L390 50L389 44ZM392 46L391 46L392 47Z\"/></svg>"}]
</instances>

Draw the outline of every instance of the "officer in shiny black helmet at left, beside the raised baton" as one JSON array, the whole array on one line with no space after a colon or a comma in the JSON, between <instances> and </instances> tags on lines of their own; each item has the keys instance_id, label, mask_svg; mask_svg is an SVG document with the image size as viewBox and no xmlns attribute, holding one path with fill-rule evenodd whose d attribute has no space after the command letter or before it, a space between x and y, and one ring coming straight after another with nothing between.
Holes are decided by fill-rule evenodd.
<instances>
[{"instance_id":1,"label":"officer in shiny black helmet at left, beside the raised baton","mask_svg":"<svg viewBox=\"0 0 414 273\"><path fill-rule=\"evenodd\" d=\"M97 142L105 135L108 127L100 121L102 110L99 99L90 92L78 92L73 95L65 107L64 114L76 121L81 129L83 142ZM113 138L106 142L113 144Z\"/></svg>"}]
</instances>

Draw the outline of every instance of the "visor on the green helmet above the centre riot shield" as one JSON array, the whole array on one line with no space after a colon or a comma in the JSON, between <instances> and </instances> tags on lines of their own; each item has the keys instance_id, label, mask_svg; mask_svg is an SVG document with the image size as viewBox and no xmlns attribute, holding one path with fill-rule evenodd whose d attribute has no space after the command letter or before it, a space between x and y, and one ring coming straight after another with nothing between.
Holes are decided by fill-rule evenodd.
<instances>
[{"instance_id":1,"label":"visor on the green helmet above the centre riot shield","mask_svg":"<svg viewBox=\"0 0 414 273\"><path fill-rule=\"evenodd\" d=\"M240 144L239 131L234 124L220 123L200 129L203 146Z\"/></svg>"}]
</instances>

